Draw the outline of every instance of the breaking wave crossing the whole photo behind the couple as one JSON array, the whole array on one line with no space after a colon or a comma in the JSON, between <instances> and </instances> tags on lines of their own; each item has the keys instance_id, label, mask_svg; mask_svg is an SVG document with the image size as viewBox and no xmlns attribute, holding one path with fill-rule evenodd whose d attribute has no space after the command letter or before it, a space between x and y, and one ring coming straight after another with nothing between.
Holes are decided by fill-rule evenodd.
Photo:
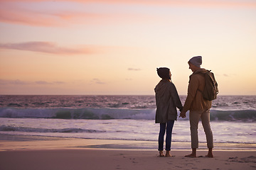
<instances>
[{"instance_id":1,"label":"breaking wave crossing the whole photo behind the couple","mask_svg":"<svg viewBox=\"0 0 256 170\"><path fill-rule=\"evenodd\" d=\"M154 120L156 109L117 108L0 108L0 118L133 119ZM188 113L187 113L188 117ZM183 120L178 118L178 120ZM184 119L188 120L188 118ZM210 110L210 120L255 122L255 110Z\"/></svg>"}]
</instances>

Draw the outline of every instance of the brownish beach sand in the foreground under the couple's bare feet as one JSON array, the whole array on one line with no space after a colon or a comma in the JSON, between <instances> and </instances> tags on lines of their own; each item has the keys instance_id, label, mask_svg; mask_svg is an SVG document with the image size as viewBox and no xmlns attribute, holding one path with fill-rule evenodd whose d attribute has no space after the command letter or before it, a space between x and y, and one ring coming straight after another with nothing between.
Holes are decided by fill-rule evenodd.
<instances>
[{"instance_id":1,"label":"brownish beach sand in the foreground under the couple's bare feet","mask_svg":"<svg viewBox=\"0 0 256 170\"><path fill-rule=\"evenodd\" d=\"M1 135L1 170L40 169L256 169L256 151L215 150L206 158L206 150L197 158L184 157L190 150L176 149L174 157L158 157L152 149L93 148L102 144L139 145L138 141L82 140L58 137L19 137ZM110 146L112 146L110 145Z\"/></svg>"}]
</instances>

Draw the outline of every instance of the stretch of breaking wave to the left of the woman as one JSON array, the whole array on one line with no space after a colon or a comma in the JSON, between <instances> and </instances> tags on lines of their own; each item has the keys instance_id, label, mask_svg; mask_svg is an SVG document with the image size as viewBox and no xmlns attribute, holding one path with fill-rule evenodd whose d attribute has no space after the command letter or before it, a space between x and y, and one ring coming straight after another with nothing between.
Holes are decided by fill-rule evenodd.
<instances>
[{"instance_id":1,"label":"stretch of breaking wave to the left of the woman","mask_svg":"<svg viewBox=\"0 0 256 170\"><path fill-rule=\"evenodd\" d=\"M0 108L0 118L134 119L153 120L155 109L112 108Z\"/></svg>"}]
</instances>

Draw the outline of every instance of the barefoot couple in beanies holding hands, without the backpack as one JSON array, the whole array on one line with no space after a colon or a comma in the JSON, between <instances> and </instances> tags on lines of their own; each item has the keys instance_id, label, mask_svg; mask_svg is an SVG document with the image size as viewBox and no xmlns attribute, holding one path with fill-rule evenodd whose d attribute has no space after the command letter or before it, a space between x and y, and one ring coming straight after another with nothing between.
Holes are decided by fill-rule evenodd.
<instances>
[{"instance_id":1,"label":"barefoot couple in beanies holding hands, without the backpack","mask_svg":"<svg viewBox=\"0 0 256 170\"><path fill-rule=\"evenodd\" d=\"M203 73L206 69L201 68L202 57L192 57L188 61L189 69L193 72L189 77L188 95L184 106L178 96L176 87L171 81L171 72L169 68L161 67L157 69L157 74L161 81L154 89L156 94L156 123L160 123L159 131L159 157L164 157L164 134L166 132L166 157L171 157L171 133L174 127L174 121L177 120L177 109L181 112L179 117L186 118L186 112L189 111L189 121L191 130L191 148L192 153L185 157L196 157L198 148L198 123L201 119L203 129L206 133L208 154L206 157L213 157L213 132L210 129L210 108L212 101L203 98L202 91L205 87L205 77Z\"/></svg>"}]
</instances>

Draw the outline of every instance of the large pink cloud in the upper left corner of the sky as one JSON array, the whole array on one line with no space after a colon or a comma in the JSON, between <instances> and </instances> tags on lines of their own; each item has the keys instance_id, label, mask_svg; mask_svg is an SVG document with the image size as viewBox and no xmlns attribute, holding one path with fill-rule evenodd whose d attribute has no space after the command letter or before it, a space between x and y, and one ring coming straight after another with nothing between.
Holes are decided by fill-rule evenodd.
<instances>
[{"instance_id":1,"label":"large pink cloud in the upper left corner of the sky","mask_svg":"<svg viewBox=\"0 0 256 170\"><path fill-rule=\"evenodd\" d=\"M0 3L0 22L16 23L29 26L67 26L81 21L92 22L102 18L98 13L82 13L77 11L36 11L31 8L21 8L15 4Z\"/></svg>"}]
</instances>

